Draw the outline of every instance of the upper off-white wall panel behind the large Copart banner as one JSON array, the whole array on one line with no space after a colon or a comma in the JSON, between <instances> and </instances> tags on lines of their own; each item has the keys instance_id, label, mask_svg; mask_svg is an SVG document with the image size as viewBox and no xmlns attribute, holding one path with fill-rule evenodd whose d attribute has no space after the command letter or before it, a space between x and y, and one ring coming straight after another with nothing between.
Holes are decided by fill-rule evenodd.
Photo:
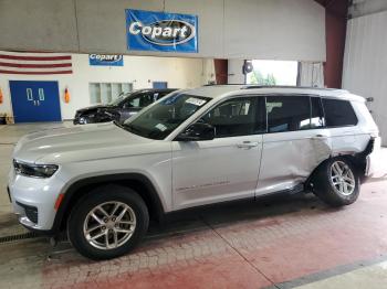
<instances>
[{"instance_id":1,"label":"upper off-white wall panel behind the large Copart banner","mask_svg":"<svg viewBox=\"0 0 387 289\"><path fill-rule=\"evenodd\" d=\"M314 0L1 0L0 50L325 61ZM125 9L198 15L198 53L128 51Z\"/></svg>"}]
</instances>

